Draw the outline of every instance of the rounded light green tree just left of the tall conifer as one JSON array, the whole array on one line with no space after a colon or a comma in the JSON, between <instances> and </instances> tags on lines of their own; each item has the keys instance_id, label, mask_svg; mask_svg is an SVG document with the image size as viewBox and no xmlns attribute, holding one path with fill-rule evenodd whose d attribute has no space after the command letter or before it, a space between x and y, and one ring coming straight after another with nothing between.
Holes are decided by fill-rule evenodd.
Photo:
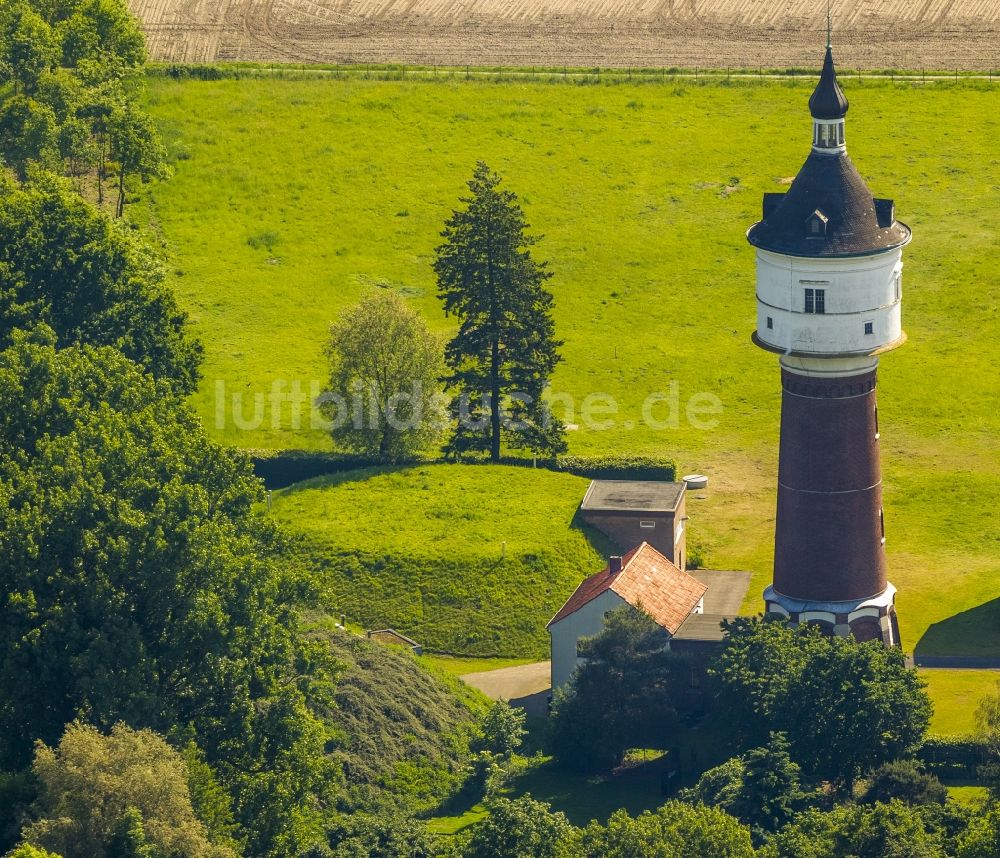
<instances>
[{"instance_id":1,"label":"rounded light green tree just left of the tall conifer","mask_svg":"<svg viewBox=\"0 0 1000 858\"><path fill-rule=\"evenodd\" d=\"M323 411L333 440L380 462L430 446L443 428L441 344L402 298L366 294L330 327Z\"/></svg>"}]
</instances>

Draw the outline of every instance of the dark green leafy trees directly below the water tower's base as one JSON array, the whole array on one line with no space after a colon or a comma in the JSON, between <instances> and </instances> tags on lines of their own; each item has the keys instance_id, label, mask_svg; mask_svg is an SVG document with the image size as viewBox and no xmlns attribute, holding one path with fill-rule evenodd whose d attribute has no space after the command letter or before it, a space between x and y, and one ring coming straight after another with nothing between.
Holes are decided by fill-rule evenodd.
<instances>
[{"instance_id":1,"label":"dark green leafy trees directly below the water tower's base","mask_svg":"<svg viewBox=\"0 0 1000 858\"><path fill-rule=\"evenodd\" d=\"M785 733L807 772L841 784L915 751L930 719L923 684L902 652L811 626L728 623L713 673L718 705L736 731L750 741Z\"/></svg>"}]
</instances>

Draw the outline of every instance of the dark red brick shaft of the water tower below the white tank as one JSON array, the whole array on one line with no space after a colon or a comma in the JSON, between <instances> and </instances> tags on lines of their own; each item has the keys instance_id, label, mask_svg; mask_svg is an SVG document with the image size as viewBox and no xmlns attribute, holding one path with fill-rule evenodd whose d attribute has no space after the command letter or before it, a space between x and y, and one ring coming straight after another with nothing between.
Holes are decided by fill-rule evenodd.
<instances>
[{"instance_id":1,"label":"dark red brick shaft of the water tower below the white tank","mask_svg":"<svg viewBox=\"0 0 1000 858\"><path fill-rule=\"evenodd\" d=\"M774 589L839 602L886 588L876 371L781 371Z\"/></svg>"}]
</instances>

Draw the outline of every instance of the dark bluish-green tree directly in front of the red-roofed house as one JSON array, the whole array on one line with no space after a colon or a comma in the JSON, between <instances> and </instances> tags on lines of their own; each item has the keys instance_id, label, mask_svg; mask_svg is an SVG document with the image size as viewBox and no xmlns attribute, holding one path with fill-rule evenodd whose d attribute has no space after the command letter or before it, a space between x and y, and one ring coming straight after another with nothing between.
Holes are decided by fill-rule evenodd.
<instances>
[{"instance_id":1,"label":"dark bluish-green tree directly in front of the red-roofed house","mask_svg":"<svg viewBox=\"0 0 1000 858\"><path fill-rule=\"evenodd\" d=\"M691 665L667 641L652 617L629 607L611 611L599 634L580 640L587 660L556 692L549 724L563 766L607 770L629 748L670 746Z\"/></svg>"}]
</instances>

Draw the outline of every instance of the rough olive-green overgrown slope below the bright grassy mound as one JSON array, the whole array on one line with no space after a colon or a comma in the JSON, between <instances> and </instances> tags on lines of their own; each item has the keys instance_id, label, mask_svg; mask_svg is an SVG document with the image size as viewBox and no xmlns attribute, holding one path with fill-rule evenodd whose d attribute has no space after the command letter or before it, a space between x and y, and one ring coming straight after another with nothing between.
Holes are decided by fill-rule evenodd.
<instances>
[{"instance_id":1,"label":"rough olive-green overgrown slope below the bright grassy mound","mask_svg":"<svg viewBox=\"0 0 1000 858\"><path fill-rule=\"evenodd\" d=\"M340 631L323 617L308 625L345 668L333 751L344 771L344 809L395 804L420 811L447 798L461 783L469 739L488 701L407 650Z\"/></svg>"}]
</instances>

